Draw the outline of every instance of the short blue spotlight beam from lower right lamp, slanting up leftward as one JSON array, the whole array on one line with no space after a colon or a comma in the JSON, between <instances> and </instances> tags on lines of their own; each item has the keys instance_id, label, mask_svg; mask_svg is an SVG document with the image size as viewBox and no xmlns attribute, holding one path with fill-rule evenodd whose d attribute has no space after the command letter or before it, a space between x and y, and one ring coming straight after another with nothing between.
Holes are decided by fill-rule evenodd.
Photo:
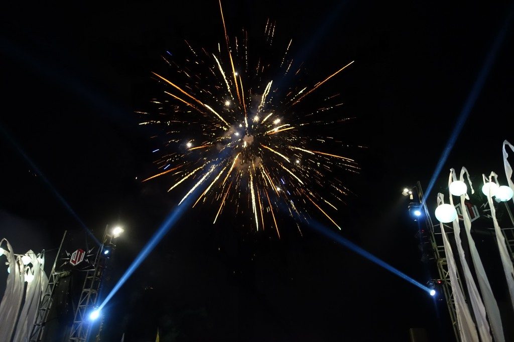
<instances>
[{"instance_id":1,"label":"short blue spotlight beam from lower right lamp, slanting up leftward","mask_svg":"<svg viewBox=\"0 0 514 342\"><path fill-rule=\"evenodd\" d=\"M357 253L358 255L360 255L360 256L362 256L362 257L364 257L364 258L366 258L366 259L368 259L368 260L370 260L370 261L372 261L374 263L376 263L377 265L379 265L380 267L388 270L389 272L391 272L393 274L396 274L398 277L400 277L400 278L402 278L404 280L407 280L408 282L410 282L411 284L417 286L421 290L426 291L431 296L435 295L435 292L432 292L432 291L434 291L433 289L431 289L431 288L425 286L424 284L420 283L419 281L409 277L407 274L405 274L405 273L395 269L394 267L392 267L387 262L377 258L376 256L374 256L370 252L362 249L361 247L359 247L358 245L356 245L352 241L344 238L343 236L341 236L341 235L337 234L336 232L328 229L327 227L321 225L320 223L315 222L315 221L311 221L310 226L313 227L319 233L321 233L324 236L326 236L327 238L335 240L339 244L345 246L346 248L350 249L351 251Z\"/></svg>"}]
</instances>

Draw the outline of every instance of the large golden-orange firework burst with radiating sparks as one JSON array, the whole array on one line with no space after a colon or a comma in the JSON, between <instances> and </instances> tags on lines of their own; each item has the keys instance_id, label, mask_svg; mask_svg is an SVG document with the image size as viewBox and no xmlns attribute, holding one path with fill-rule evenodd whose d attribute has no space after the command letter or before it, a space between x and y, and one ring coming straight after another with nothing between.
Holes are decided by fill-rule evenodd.
<instances>
[{"instance_id":1,"label":"large golden-orange firework burst with radiating sparks","mask_svg":"<svg viewBox=\"0 0 514 342\"><path fill-rule=\"evenodd\" d=\"M347 118L321 118L325 111L340 110L339 94L310 109L302 103L353 62L314 86L297 86L299 82L291 80L301 69L291 70L292 40L281 58L273 60L268 54L253 61L248 33L243 30L241 36L229 39L221 3L219 7L225 42L218 43L214 52L186 42L190 58L179 65L168 53L163 59L171 75L154 73L165 90L162 98L152 101L157 105L154 112L140 112L140 124L164 127L165 138L154 150L160 154L155 162L159 173L144 181L169 176L169 191L186 187L178 205L189 196L197 196L193 207L204 202L215 205L213 223L224 211L244 213L256 230L272 227L280 237L279 213L308 220L309 209L315 209L341 229L330 214L349 192L339 172L358 173L359 167L337 154L341 141L302 134L311 130L305 126L334 125ZM268 47L275 27L267 21ZM337 112L332 118L336 116ZM197 188L203 190L199 196Z\"/></svg>"}]
</instances>

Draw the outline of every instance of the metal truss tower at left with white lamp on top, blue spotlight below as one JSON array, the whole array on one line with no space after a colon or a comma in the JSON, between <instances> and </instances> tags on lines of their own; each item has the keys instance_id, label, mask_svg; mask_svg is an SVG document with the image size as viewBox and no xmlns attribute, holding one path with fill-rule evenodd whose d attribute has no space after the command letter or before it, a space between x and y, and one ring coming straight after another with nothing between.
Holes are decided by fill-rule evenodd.
<instances>
[{"instance_id":1,"label":"metal truss tower at left with white lamp on top, blue spotlight below","mask_svg":"<svg viewBox=\"0 0 514 342\"><path fill-rule=\"evenodd\" d=\"M69 336L70 341L85 342L89 338L89 331L93 324L89 318L89 314L96 309L96 303L107 259L111 256L111 254L108 253L111 249L115 248L113 238L113 234L108 231L108 226L105 227L102 244L100 245L95 257L94 267L87 271L84 279L79 302L75 311L75 318L73 320L73 325L71 326Z\"/></svg>"}]
</instances>

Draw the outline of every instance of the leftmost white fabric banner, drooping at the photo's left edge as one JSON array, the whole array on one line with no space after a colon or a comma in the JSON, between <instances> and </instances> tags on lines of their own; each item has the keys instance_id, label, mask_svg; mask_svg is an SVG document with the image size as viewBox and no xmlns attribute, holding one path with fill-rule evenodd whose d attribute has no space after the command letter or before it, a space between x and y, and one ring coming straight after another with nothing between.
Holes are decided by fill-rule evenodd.
<instances>
[{"instance_id":1,"label":"leftmost white fabric banner, drooping at the photo's left edge","mask_svg":"<svg viewBox=\"0 0 514 342\"><path fill-rule=\"evenodd\" d=\"M10 273L7 276L7 286L0 303L0 341L10 341L20 313L25 286L24 265L21 257L15 256L12 246L6 239L0 245L7 245L4 252L9 263Z\"/></svg>"}]
</instances>

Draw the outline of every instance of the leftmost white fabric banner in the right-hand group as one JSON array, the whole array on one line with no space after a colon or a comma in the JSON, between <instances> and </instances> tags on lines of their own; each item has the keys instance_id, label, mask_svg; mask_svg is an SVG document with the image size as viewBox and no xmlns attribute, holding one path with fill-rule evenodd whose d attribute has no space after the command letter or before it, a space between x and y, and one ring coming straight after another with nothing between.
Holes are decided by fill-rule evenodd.
<instances>
[{"instance_id":1,"label":"leftmost white fabric banner in the right-hand group","mask_svg":"<svg viewBox=\"0 0 514 342\"><path fill-rule=\"evenodd\" d=\"M437 205L440 203L444 203L443 201L444 195L437 194ZM457 277L457 268L455 264L455 259L453 257L453 251L451 249L451 245L448 241L448 237L446 236L445 228L443 223L439 222L441 227L441 233L443 235L443 245L445 248L446 261L448 264L448 275L450 276L450 286L453 292L453 298L455 302L455 311L457 315L457 325L458 331L461 336L462 342L478 342L479 336L476 333L476 327L471 318L471 314L469 312L468 305L466 303L466 297L461 289L461 286L458 282Z\"/></svg>"}]
</instances>

